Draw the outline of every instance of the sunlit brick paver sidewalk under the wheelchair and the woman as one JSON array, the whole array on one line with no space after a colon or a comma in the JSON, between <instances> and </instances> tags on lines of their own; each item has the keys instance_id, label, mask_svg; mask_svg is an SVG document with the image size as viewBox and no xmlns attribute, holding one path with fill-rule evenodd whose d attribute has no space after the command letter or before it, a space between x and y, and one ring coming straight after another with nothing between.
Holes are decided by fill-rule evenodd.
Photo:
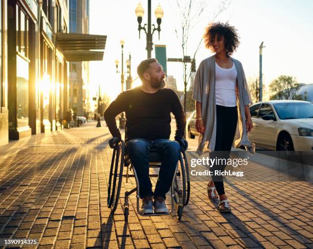
<instances>
[{"instance_id":1,"label":"sunlit brick paver sidewalk under the wheelchair and the woman","mask_svg":"<svg viewBox=\"0 0 313 249\"><path fill-rule=\"evenodd\" d=\"M220 214L206 182L193 180L181 221L175 212L139 216L133 194L126 225L123 198L114 216L107 208L110 134L95 126L9 145L21 150L0 157L0 238L36 239L38 248L313 247L313 186L307 182L226 184L233 212ZM250 170L259 178L264 171L276 174L256 164ZM123 179L121 197L135 186L135 179Z\"/></svg>"}]
</instances>

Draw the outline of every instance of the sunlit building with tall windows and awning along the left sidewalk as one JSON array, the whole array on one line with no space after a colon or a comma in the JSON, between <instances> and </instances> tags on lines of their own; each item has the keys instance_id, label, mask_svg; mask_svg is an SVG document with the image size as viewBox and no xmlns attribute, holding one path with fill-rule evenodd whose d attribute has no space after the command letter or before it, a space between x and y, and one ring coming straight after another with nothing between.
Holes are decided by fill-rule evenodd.
<instances>
[{"instance_id":1,"label":"sunlit building with tall windows and awning along the left sidewalk","mask_svg":"<svg viewBox=\"0 0 313 249\"><path fill-rule=\"evenodd\" d=\"M62 129L73 95L69 62L103 59L102 51L91 50L104 50L106 36L69 33L68 3L1 1L0 146L9 140ZM84 10L88 12L89 6ZM88 27L86 18L77 19L84 30ZM88 78L88 73L82 78ZM77 88L81 96L84 88Z\"/></svg>"}]
</instances>

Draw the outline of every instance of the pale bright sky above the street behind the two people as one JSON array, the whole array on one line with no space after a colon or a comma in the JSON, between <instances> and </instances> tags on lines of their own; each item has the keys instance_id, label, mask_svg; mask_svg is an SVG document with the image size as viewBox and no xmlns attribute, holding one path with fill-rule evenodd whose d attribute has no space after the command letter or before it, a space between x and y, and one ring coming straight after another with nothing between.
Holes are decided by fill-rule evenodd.
<instances>
[{"instance_id":1,"label":"pale bright sky above the street behind the two people","mask_svg":"<svg viewBox=\"0 0 313 249\"><path fill-rule=\"evenodd\" d=\"M225 1L225 0L224 0ZM227 1L227 0L226 0ZM147 23L147 0L141 0L145 10L142 25ZM182 58L181 38L175 29L181 31L181 13L176 0L151 1L151 22L157 25L154 10L158 4L164 10L160 40L158 32L153 34L154 44L166 45L168 58ZM185 0L178 1L181 5ZM200 0L194 0L193 11L199 8ZM245 76L256 78L259 75L259 46L264 41L262 52L263 84L266 86L280 75L296 77L300 83L313 83L313 1L312 0L232 0L227 8L214 20L222 0L207 0L202 15L194 21L189 34L188 55L202 38L205 27L211 21L228 21L240 36L240 45L232 55L241 61ZM121 46L124 44L124 71L126 59L131 53L131 75L137 78L137 65L147 58L146 36L141 31L139 39L135 9L137 0L92 0L90 1L90 33L107 35L103 61L90 62L91 94L96 96L100 84L102 92L113 100L121 91L121 75L116 72L115 60L119 59L121 71ZM194 12L194 13L195 13ZM196 66L213 53L200 47L196 55ZM152 57L154 57L154 50ZM183 90L183 67L181 63L168 62L167 75L176 78L177 88ZM125 73L125 80L127 74ZM133 85L140 85L136 80ZM125 85L125 84L124 84ZM125 86L124 86L125 87ZM268 89L268 87L267 87Z\"/></svg>"}]
</instances>

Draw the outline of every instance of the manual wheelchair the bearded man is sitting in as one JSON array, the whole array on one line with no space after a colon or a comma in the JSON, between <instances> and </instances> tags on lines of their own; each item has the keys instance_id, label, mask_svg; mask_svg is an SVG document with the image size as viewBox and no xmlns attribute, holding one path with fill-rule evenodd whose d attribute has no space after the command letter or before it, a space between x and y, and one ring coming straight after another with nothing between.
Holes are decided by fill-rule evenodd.
<instances>
[{"instance_id":1,"label":"manual wheelchair the bearded man is sitting in","mask_svg":"<svg viewBox=\"0 0 313 249\"><path fill-rule=\"evenodd\" d=\"M151 147L149 154L149 168L160 168L162 165L161 157L157 149ZM126 174L123 174L123 169L126 168ZM129 172L133 171L133 174ZM150 174L149 177L158 177L158 174ZM139 196L139 180L136 174L135 167L132 167L128 155L125 154L125 143L122 140L116 143L113 148L113 156L111 160L111 167L109 173L108 182L108 195L107 195L107 207L111 209L111 213L117 209L120 190L122 185L122 178L126 177L126 183L129 177L135 177L137 187L130 191L126 191L124 195L124 205L123 213L124 219L127 223L129 214L129 202L128 196L134 192L137 192L137 212L142 216L159 216L159 215L170 215L174 211L174 206L176 207L176 216L178 220L181 220L183 214L183 208L188 204L190 197L190 180L189 180L189 170L187 163L187 156L185 150L181 147L180 159L177 162L175 173L173 175L171 184L171 209L168 213L153 213L153 214L143 214L140 212L140 196Z\"/></svg>"}]
</instances>

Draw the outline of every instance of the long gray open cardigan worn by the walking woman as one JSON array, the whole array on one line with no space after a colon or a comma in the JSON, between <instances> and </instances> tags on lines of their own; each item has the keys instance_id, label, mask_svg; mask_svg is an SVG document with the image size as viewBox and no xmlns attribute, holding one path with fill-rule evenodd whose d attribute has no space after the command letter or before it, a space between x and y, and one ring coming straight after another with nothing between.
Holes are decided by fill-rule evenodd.
<instances>
[{"instance_id":1,"label":"long gray open cardigan worn by the walking woman","mask_svg":"<svg viewBox=\"0 0 313 249\"><path fill-rule=\"evenodd\" d=\"M249 151L254 151L255 145L248 140L245 130L244 106L251 105L252 100L240 61L231 58L237 71L237 106L238 122L234 137L234 146L245 146ZM215 55L204 59L198 67L194 79L192 99L202 103L202 118L205 133L199 135L196 153L202 155L214 151L216 140L216 98L215 98Z\"/></svg>"}]
</instances>

